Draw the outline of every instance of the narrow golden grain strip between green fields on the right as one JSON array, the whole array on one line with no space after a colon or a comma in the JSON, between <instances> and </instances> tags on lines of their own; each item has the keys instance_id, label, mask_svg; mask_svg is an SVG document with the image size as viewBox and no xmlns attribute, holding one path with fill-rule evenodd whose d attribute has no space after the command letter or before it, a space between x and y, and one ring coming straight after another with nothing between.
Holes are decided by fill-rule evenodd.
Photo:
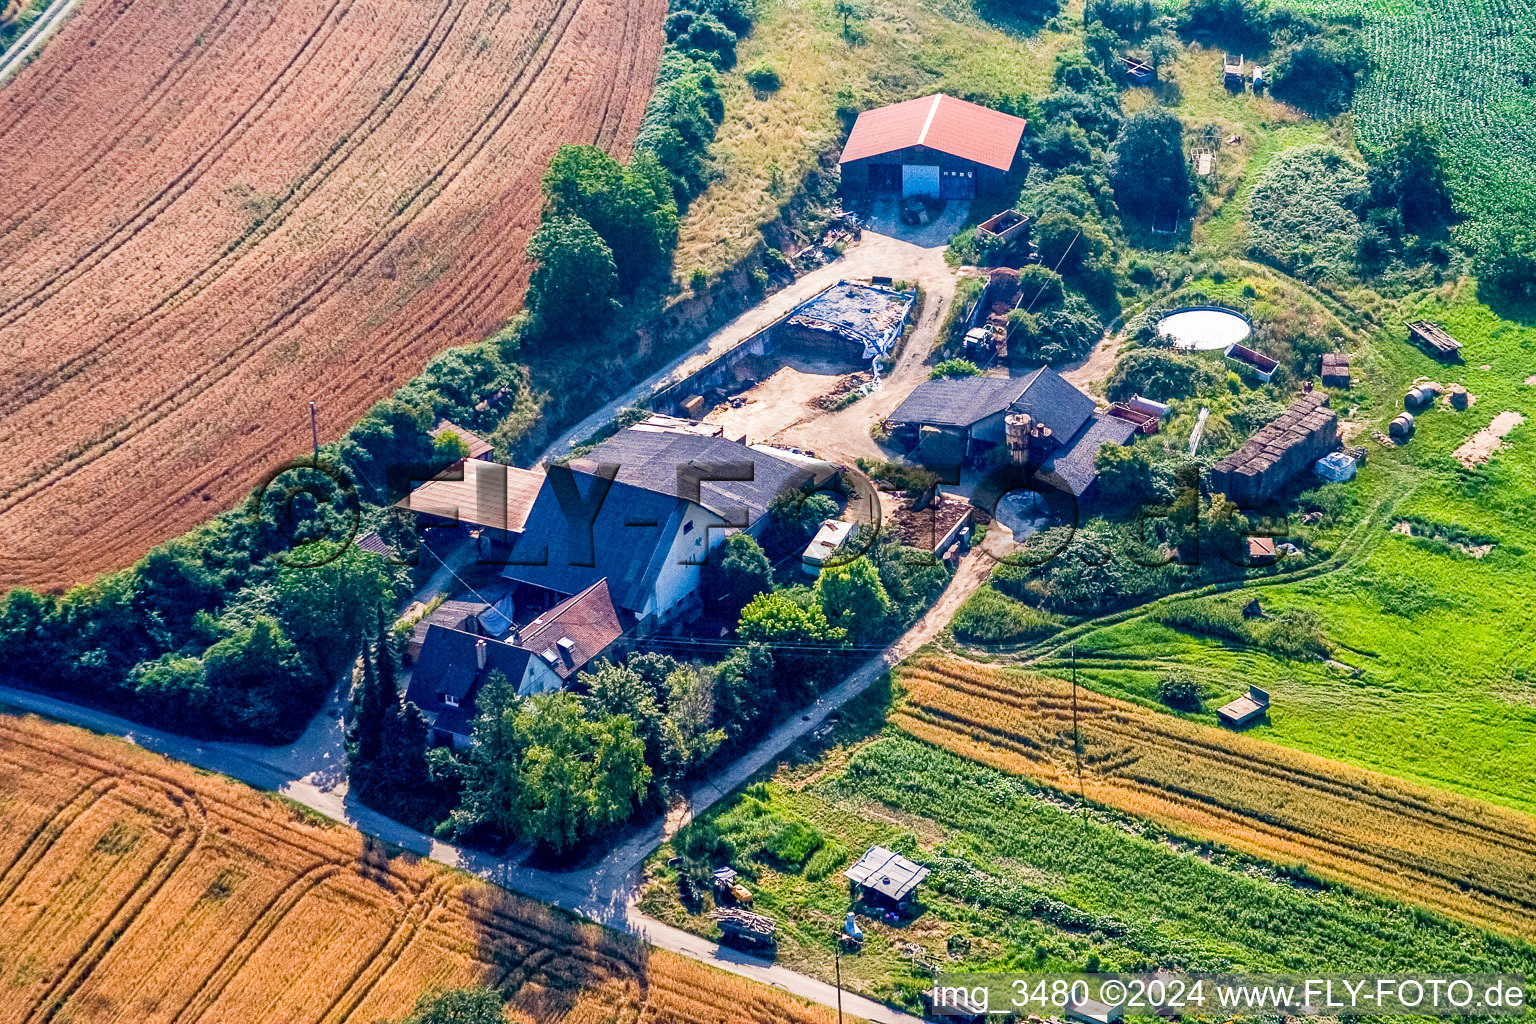
<instances>
[{"instance_id":1,"label":"narrow golden grain strip between green fields on the right","mask_svg":"<svg viewBox=\"0 0 1536 1024\"><path fill-rule=\"evenodd\" d=\"M1077 792L1072 688L945 659L900 669L911 735ZM1281 864L1536 938L1536 821L1078 691L1089 800Z\"/></svg>"}]
</instances>

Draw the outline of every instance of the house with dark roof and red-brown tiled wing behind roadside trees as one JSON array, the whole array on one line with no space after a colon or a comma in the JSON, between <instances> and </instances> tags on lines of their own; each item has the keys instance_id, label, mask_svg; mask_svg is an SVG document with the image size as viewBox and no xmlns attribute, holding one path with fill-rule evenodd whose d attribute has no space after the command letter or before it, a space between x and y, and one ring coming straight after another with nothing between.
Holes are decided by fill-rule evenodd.
<instances>
[{"instance_id":1,"label":"house with dark roof and red-brown tiled wing behind roadside trees","mask_svg":"<svg viewBox=\"0 0 1536 1024\"><path fill-rule=\"evenodd\" d=\"M481 611L462 626L432 623L425 629L406 697L427 715L436 743L468 745L479 714L475 699L492 672L504 674L519 695L548 692L624 636L605 579L505 639L478 633L484 620Z\"/></svg>"}]
</instances>

